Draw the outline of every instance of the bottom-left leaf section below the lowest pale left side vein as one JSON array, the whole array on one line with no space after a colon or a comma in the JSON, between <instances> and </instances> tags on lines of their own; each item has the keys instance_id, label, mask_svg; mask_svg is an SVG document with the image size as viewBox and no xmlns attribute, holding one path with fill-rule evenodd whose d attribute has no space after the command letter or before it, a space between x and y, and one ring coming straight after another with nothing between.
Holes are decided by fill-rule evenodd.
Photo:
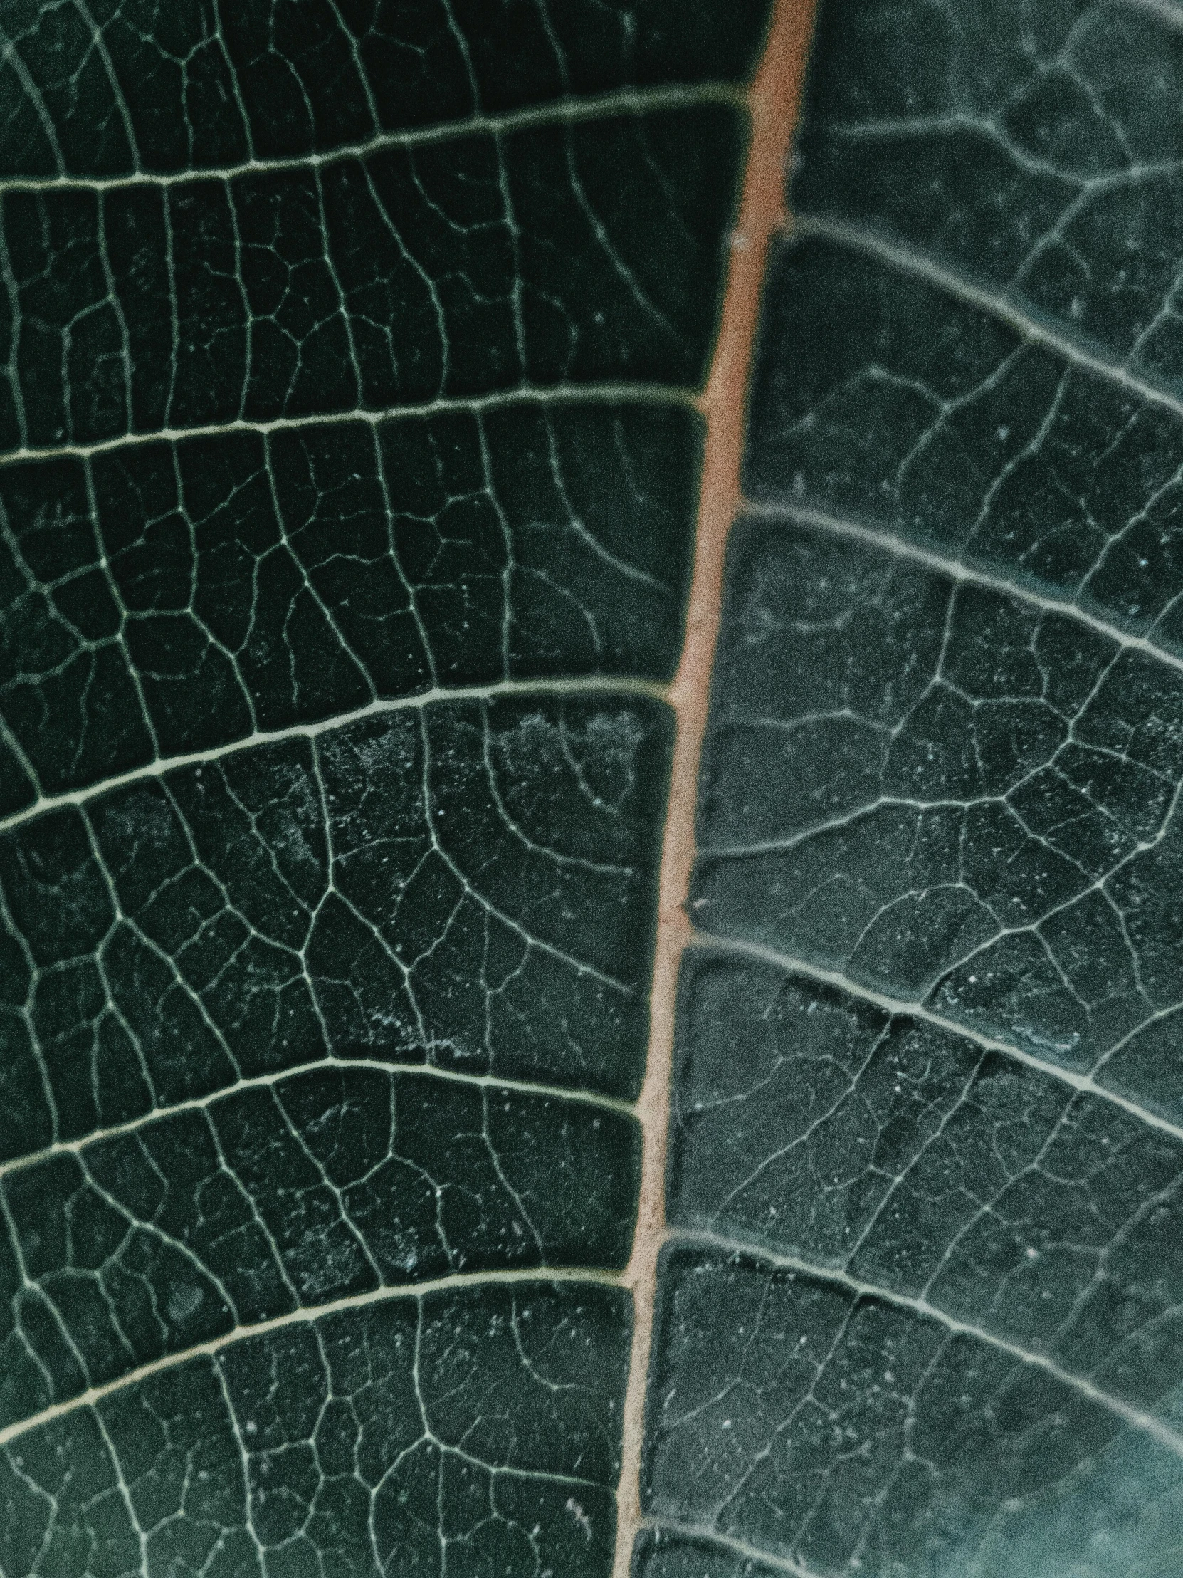
<instances>
[{"instance_id":1,"label":"bottom-left leaf section below the lowest pale left side vein","mask_svg":"<svg viewBox=\"0 0 1183 1578\"><path fill-rule=\"evenodd\" d=\"M162 1368L0 1447L5 1572L603 1572L628 1324L615 1288L468 1286Z\"/></svg>"}]
</instances>

